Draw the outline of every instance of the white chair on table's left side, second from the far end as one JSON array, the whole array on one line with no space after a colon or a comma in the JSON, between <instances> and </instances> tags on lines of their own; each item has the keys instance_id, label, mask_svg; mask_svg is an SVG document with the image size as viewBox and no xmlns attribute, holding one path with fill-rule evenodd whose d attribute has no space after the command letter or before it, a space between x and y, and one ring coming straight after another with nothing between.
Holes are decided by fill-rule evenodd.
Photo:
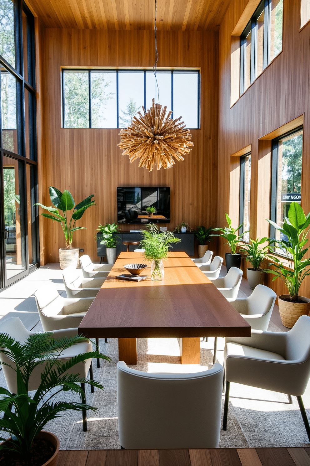
<instances>
[{"instance_id":1,"label":"white chair on table's left side, second from the far end","mask_svg":"<svg viewBox=\"0 0 310 466\"><path fill-rule=\"evenodd\" d=\"M81 269L66 267L62 271L68 298L94 298L105 278L84 278Z\"/></svg>"}]
</instances>

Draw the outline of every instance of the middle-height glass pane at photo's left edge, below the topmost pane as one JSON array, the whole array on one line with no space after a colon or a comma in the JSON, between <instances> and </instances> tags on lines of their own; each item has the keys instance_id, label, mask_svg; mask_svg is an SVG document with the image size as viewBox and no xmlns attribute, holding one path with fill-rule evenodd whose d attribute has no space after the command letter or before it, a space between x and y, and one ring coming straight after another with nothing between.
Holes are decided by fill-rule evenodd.
<instances>
[{"instance_id":1,"label":"middle-height glass pane at photo's left edge, below the topmost pane","mask_svg":"<svg viewBox=\"0 0 310 466\"><path fill-rule=\"evenodd\" d=\"M1 70L1 127L2 147L18 153L17 119L16 119L15 78L4 69Z\"/></svg>"}]
</instances>

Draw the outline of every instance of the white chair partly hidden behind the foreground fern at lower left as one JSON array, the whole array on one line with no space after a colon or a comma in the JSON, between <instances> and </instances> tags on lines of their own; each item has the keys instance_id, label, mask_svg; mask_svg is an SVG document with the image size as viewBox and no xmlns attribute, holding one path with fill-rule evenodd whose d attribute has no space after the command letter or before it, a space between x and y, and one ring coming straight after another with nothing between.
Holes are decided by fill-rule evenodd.
<instances>
[{"instance_id":1,"label":"white chair partly hidden behind the foreground fern at lower left","mask_svg":"<svg viewBox=\"0 0 310 466\"><path fill-rule=\"evenodd\" d=\"M14 340L20 343L26 343L27 338L30 335L35 335L36 332L30 332L27 330L21 320L18 317L11 317L4 322L0 322L0 333L6 333L9 336L12 336ZM55 330L51 337L53 338L61 338L63 336L75 336L78 333L78 329L65 329L65 330ZM62 351L61 355L58 357L59 362L66 363L69 361L73 356L77 356L81 353L88 353L92 351L92 342L85 342L85 343L76 343L75 345L71 346L68 349ZM5 354L0 352L0 362L2 364L2 370L4 377L7 382L7 388L11 393L17 393L17 378L16 378L16 370L14 370L15 363L13 363ZM8 367L6 364L10 364L12 367ZM37 390L41 384L41 374L45 369L45 364L41 364L37 366L29 379L29 391ZM92 373L92 359L87 359L86 361L80 362L73 366L70 369L72 374L79 374L81 378L86 378L89 371L89 376L93 379ZM82 397L82 403L86 403L85 397L85 383L81 383L81 388L84 391L84 399ZM91 386L91 391L93 393L94 389ZM87 431L87 418L86 418L86 410L83 410L83 431Z\"/></svg>"}]
</instances>

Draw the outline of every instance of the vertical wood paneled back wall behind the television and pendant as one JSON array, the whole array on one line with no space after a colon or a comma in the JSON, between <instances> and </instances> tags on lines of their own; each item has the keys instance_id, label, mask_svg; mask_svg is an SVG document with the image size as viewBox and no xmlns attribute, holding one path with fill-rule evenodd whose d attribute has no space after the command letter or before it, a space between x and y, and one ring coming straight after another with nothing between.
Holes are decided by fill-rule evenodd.
<instances>
[{"instance_id":1,"label":"vertical wood paneled back wall behind the television and pendant","mask_svg":"<svg viewBox=\"0 0 310 466\"><path fill-rule=\"evenodd\" d=\"M201 69L201 129L191 130L194 147L170 170L138 168L122 157L118 129L62 129L61 67L152 67L152 31L41 29L43 144L40 202L50 205L47 187L72 192L76 202L94 194L96 206L79 221L74 246L97 260L94 240L99 223L116 221L117 186L170 186L171 223L192 227L217 221L218 195L218 33L158 31L158 67ZM179 96L182 99L182 96ZM65 246L59 224L44 219L42 263L58 262ZM131 226L139 228L139 226ZM130 229L130 226L123 226ZM42 241L41 241L42 242Z\"/></svg>"}]
</instances>

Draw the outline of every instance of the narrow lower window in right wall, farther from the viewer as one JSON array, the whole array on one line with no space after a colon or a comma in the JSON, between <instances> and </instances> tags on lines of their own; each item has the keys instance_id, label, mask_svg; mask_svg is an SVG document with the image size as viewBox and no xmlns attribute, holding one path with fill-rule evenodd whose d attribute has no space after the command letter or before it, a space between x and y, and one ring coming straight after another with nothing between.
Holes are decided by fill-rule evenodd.
<instances>
[{"instance_id":1,"label":"narrow lower window in right wall, farther from the viewer","mask_svg":"<svg viewBox=\"0 0 310 466\"><path fill-rule=\"evenodd\" d=\"M251 193L251 152L240 158L240 204L239 225L242 231L250 230L250 193ZM250 241L250 233L244 233L243 240Z\"/></svg>"}]
</instances>

